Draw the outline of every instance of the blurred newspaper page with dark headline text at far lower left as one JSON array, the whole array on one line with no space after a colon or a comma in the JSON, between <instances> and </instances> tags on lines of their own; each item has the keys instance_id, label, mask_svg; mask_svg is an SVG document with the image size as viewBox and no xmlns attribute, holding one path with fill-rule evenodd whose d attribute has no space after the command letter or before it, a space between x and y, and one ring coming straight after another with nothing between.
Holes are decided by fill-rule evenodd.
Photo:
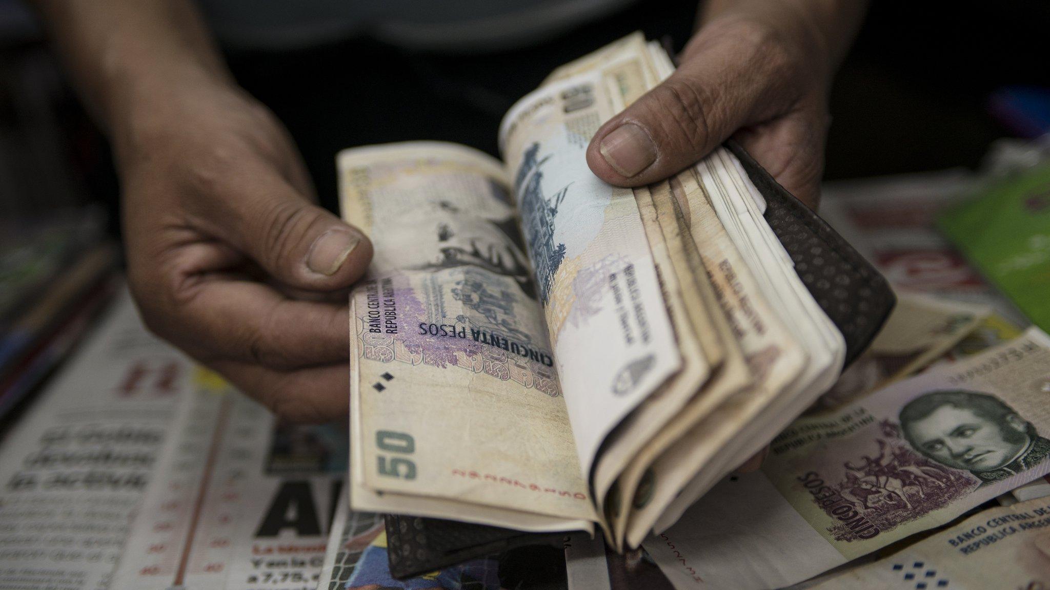
<instances>
[{"instance_id":1,"label":"blurred newspaper page with dark headline text at far lower left","mask_svg":"<svg viewBox=\"0 0 1050 590\"><path fill-rule=\"evenodd\" d=\"M122 293L0 447L0 588L101 590L192 363Z\"/></svg>"}]
</instances>

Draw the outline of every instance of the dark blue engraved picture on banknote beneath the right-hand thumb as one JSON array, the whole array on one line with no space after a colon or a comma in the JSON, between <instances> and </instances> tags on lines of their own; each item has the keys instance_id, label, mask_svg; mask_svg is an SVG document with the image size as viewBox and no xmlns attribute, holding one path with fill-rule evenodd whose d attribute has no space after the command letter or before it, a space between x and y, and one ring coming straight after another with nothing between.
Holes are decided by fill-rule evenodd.
<instances>
[{"instance_id":1,"label":"dark blue engraved picture on banknote beneath the right-hand thumb","mask_svg":"<svg viewBox=\"0 0 1050 590\"><path fill-rule=\"evenodd\" d=\"M547 159L538 159L539 152L539 142L525 150L518 177L514 178L514 192L521 199L522 231L532 258L540 298L546 303L554 273L565 258L565 245L554 244L554 217L558 216L558 207L570 185L563 187L549 199L543 195L543 171L540 167Z\"/></svg>"}]
</instances>

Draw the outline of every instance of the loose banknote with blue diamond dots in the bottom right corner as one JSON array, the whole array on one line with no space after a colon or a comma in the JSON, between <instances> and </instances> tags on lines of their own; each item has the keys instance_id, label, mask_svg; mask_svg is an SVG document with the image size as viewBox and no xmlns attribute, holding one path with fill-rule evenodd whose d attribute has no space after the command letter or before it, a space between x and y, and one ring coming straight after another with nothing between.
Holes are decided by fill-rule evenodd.
<instances>
[{"instance_id":1,"label":"loose banknote with blue diamond dots in the bottom right corner","mask_svg":"<svg viewBox=\"0 0 1050 590\"><path fill-rule=\"evenodd\" d=\"M819 590L1050 588L1050 500L983 510Z\"/></svg>"}]
</instances>

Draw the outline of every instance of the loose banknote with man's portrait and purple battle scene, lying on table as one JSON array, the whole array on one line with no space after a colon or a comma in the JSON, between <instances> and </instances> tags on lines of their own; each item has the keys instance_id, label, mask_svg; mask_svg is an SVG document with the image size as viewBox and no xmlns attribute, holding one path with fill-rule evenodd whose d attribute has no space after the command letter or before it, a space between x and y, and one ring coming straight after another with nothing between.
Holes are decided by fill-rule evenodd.
<instances>
[{"instance_id":1,"label":"loose banknote with man's portrait and purple battle scene, lying on table","mask_svg":"<svg viewBox=\"0 0 1050 590\"><path fill-rule=\"evenodd\" d=\"M1050 471L1050 337L1022 337L792 423L645 546L679 587L779 588Z\"/></svg>"}]
</instances>

